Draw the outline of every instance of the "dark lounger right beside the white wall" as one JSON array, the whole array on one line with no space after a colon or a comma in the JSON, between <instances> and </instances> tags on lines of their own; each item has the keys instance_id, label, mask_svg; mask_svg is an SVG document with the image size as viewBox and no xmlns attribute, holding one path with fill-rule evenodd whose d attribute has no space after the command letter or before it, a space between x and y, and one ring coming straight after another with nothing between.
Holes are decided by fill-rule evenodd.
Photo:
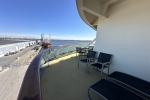
<instances>
[{"instance_id":1,"label":"dark lounger right beside the white wall","mask_svg":"<svg viewBox=\"0 0 150 100\"><path fill-rule=\"evenodd\" d=\"M142 80L135 76L132 76L123 72L118 72L118 71L115 71L112 74L108 75L107 79L112 79L114 81L122 83L148 96L150 99L150 83L145 80Z\"/></svg>"}]
</instances>

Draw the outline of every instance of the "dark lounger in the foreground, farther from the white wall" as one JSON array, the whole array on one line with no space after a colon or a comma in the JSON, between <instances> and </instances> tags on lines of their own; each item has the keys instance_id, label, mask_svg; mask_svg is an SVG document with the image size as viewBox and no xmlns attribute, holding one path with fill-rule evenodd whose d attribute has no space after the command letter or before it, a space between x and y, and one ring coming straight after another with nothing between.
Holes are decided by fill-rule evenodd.
<instances>
[{"instance_id":1,"label":"dark lounger in the foreground, farther from the white wall","mask_svg":"<svg viewBox=\"0 0 150 100\"><path fill-rule=\"evenodd\" d=\"M102 79L89 87L88 96L90 100L92 100L89 92L90 90L100 95L104 100L146 100L145 98L106 79Z\"/></svg>"}]
</instances>

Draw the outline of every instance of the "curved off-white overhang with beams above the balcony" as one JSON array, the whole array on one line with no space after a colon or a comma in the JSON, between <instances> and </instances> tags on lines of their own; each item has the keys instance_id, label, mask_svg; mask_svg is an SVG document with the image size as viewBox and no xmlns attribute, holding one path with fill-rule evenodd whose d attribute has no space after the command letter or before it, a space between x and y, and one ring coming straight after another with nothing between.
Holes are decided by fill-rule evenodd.
<instances>
[{"instance_id":1,"label":"curved off-white overhang with beams above the balcony","mask_svg":"<svg viewBox=\"0 0 150 100\"><path fill-rule=\"evenodd\" d=\"M81 18L94 30L99 20L107 19L108 9L125 0L76 0Z\"/></svg>"}]
</instances>

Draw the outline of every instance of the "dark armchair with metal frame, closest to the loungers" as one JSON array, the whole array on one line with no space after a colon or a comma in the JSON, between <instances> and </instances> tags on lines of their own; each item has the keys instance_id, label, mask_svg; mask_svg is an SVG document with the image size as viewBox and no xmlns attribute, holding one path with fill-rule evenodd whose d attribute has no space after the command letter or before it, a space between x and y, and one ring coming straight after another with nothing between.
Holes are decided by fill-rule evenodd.
<instances>
[{"instance_id":1,"label":"dark armchair with metal frame, closest to the loungers","mask_svg":"<svg viewBox=\"0 0 150 100\"><path fill-rule=\"evenodd\" d=\"M91 66L101 71L100 79L102 79L103 69L108 68L108 74L109 74L109 65L110 65L111 57L112 54L106 54L100 52L99 57L97 59L97 63L91 64Z\"/></svg>"}]
</instances>

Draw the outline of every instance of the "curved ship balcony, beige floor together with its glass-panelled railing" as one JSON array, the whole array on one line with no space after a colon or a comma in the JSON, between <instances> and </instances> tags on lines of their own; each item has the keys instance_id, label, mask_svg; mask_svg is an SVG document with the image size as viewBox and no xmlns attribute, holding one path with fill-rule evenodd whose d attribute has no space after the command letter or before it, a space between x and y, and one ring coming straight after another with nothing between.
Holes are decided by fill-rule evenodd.
<instances>
[{"instance_id":1,"label":"curved ship balcony, beige floor together with its glass-panelled railing","mask_svg":"<svg viewBox=\"0 0 150 100\"><path fill-rule=\"evenodd\" d=\"M88 88L100 80L100 72L90 67L87 74L84 63L80 63L78 68L75 48L86 46L65 45L40 52L28 67L18 100L88 100ZM102 78L106 76L103 73ZM131 91L149 98L138 91ZM103 100L103 97L92 91L90 95L93 100Z\"/></svg>"}]
</instances>

